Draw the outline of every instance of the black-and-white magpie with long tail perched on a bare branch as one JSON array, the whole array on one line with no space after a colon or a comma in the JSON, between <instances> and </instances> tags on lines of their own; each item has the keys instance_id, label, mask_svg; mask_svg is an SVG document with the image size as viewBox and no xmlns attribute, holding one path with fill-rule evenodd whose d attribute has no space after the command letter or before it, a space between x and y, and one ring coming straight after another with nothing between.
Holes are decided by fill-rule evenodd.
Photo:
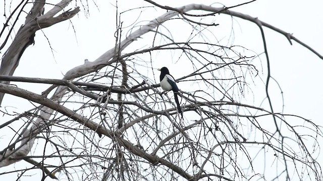
<instances>
[{"instance_id":1,"label":"black-and-white magpie with long tail perched on a bare branch","mask_svg":"<svg viewBox=\"0 0 323 181\"><path fill-rule=\"evenodd\" d=\"M179 93L178 86L176 85L175 78L170 74L170 71L167 67L163 67L158 69L160 71L160 86L163 88L164 91L173 91L174 92L174 98L175 102L177 104L177 110L182 115L183 118L183 112L181 110L180 103L178 101L177 94Z\"/></svg>"}]
</instances>

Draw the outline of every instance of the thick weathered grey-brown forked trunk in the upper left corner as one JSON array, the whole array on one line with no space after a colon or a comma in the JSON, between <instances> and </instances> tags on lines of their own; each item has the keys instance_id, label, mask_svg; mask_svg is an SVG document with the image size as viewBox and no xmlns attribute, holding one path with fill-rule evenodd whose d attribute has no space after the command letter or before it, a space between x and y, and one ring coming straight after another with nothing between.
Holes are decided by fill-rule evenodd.
<instances>
[{"instance_id":1,"label":"thick weathered grey-brown forked trunk in the upper left corner","mask_svg":"<svg viewBox=\"0 0 323 181\"><path fill-rule=\"evenodd\" d=\"M21 58L27 47L34 44L34 37L36 31L47 28L56 23L68 20L74 17L80 9L77 7L72 11L64 11L63 9L69 5L71 0L63 0L50 11L43 15L44 11L44 0L35 1L33 8L26 17L25 24L20 27L15 36L12 44L6 51L4 57L2 58L0 75L13 75ZM57 17L59 12L63 10L63 13ZM0 81L0 83L9 84L9 81ZM0 93L0 105L4 98L4 93Z\"/></svg>"}]
</instances>

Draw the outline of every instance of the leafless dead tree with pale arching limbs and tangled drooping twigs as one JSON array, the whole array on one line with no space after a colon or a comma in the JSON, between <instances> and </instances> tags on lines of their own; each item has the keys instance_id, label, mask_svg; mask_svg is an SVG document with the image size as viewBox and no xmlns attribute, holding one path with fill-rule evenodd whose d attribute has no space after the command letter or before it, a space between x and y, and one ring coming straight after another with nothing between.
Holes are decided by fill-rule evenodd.
<instances>
[{"instance_id":1,"label":"leafless dead tree with pale arching limbs and tangled drooping twigs","mask_svg":"<svg viewBox=\"0 0 323 181\"><path fill-rule=\"evenodd\" d=\"M131 30L125 38L119 22L116 46L96 60L72 68L62 79L8 76L17 67L25 48L33 43L37 30L68 20L79 12L79 8L64 11L69 2L62 1L41 15L45 2L36 1L3 57L0 93L21 97L39 106L20 115L3 111L12 119L0 129L23 124L13 129L12 141L3 147L0 167L24 160L32 166L22 170L19 177L41 169L42 179L48 176L69 180L291 179L294 171L299 179L309 175L322 180L320 164L312 156L319 144L311 139L322 137L321 128L297 115L273 111L268 95L270 60L262 28L283 34L288 41L296 41L322 58L312 48L283 30L231 11L233 7L191 4L172 8L147 0L166 13ZM53 18L62 10L61 15ZM204 13L190 14L193 10ZM219 14L258 25L266 55L261 61L268 68L263 91L269 107L243 104L240 99L245 96L248 83L257 79L258 67L253 60L258 55L241 46L221 45L203 34L221 26L208 19ZM205 21L197 21L201 17ZM192 35L202 38L192 36L186 42L175 41L163 31L165 22L174 19L192 26ZM24 35L26 29L28 35ZM172 32L171 28L168 30ZM152 42L150 47L125 50L143 35L150 35L150 39L145 39ZM163 41L158 44L157 39ZM162 51L180 52L191 63L191 71L176 81L197 83L201 87L181 92L184 119L178 116L171 94L161 93L158 81L151 78L154 73L151 62L140 59L140 55L151 58L154 52ZM9 60L14 60L13 64ZM137 68L143 65L148 74ZM51 86L38 95L9 85L10 81ZM263 121L270 122L274 129ZM304 130L308 136L303 135ZM315 146L308 147L306 139ZM35 141L39 142L37 146ZM259 156L260 152L263 156ZM279 171L268 175L267 170L259 170L259 161L263 160L276 164ZM265 167L266 161L263 162ZM8 172L0 173L3 174Z\"/></svg>"}]
</instances>

